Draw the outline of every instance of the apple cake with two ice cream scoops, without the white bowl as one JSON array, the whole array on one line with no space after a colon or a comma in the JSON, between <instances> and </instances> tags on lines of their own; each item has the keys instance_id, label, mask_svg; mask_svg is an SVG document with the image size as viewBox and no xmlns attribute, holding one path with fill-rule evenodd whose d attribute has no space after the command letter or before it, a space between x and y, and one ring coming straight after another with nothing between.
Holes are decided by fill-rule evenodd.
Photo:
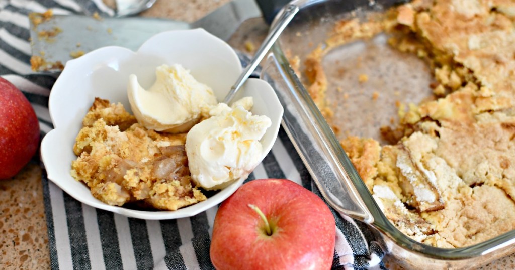
<instances>
[{"instance_id":1,"label":"apple cake with two ice cream scoops, without the white bowl","mask_svg":"<svg viewBox=\"0 0 515 270\"><path fill-rule=\"evenodd\" d=\"M131 115L95 98L73 146L72 176L109 205L177 210L245 179L261 162L271 125L252 97L217 103L211 87L180 64L160 65L144 89L129 76Z\"/></svg>"}]
</instances>

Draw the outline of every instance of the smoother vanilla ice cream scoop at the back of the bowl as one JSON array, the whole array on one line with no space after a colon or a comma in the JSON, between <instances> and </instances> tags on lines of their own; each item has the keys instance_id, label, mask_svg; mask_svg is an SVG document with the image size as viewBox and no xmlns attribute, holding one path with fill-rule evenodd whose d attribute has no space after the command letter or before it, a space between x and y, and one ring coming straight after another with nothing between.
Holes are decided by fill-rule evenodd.
<instances>
[{"instance_id":1,"label":"smoother vanilla ice cream scoop at the back of the bowl","mask_svg":"<svg viewBox=\"0 0 515 270\"><path fill-rule=\"evenodd\" d=\"M127 87L132 112L147 129L186 132L217 104L212 89L179 64L157 67L156 76L148 90L135 75L129 76Z\"/></svg>"}]
</instances>

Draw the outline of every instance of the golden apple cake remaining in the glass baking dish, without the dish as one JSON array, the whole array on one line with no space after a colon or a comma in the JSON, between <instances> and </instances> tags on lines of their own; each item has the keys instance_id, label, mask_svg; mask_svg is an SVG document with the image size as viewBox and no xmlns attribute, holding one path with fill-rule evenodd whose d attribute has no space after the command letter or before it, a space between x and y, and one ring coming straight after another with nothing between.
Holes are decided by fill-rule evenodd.
<instances>
[{"instance_id":1,"label":"golden apple cake remaining in the glass baking dish, without the dish","mask_svg":"<svg viewBox=\"0 0 515 270\"><path fill-rule=\"evenodd\" d=\"M299 70L330 123L338 115L322 59L334 48L386 32L391 47L433 70L433 95L381 129L389 143L340 141L377 204L405 235L437 247L515 229L515 3L421 0L374 18L338 22Z\"/></svg>"}]
</instances>

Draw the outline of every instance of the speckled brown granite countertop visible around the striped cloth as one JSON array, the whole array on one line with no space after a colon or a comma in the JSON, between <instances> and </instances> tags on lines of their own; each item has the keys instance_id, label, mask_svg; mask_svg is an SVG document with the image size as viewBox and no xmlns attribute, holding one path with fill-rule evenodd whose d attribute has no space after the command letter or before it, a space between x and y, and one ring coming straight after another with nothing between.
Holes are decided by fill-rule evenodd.
<instances>
[{"instance_id":1,"label":"speckled brown granite countertop visible around the striped cloth","mask_svg":"<svg viewBox=\"0 0 515 270\"><path fill-rule=\"evenodd\" d=\"M109 4L114 0L105 2ZM142 15L193 22L227 2L229 0L160 0ZM241 50L248 50L249 44L257 47L266 34L266 26L261 21L248 22L243 28L245 30L239 30L229 41ZM248 29L252 30L251 35ZM0 268L50 268L44 210L38 164L30 163L12 179L0 182ZM397 268L395 262L386 262L390 268ZM482 268L515 269L515 254Z\"/></svg>"}]
</instances>

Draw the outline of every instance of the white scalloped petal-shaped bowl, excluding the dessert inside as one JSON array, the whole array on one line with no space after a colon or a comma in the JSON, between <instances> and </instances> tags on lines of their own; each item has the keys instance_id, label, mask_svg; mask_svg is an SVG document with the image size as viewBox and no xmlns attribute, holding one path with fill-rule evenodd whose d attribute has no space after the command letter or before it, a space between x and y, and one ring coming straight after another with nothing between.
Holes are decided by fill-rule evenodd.
<instances>
[{"instance_id":1,"label":"white scalloped petal-shaped bowl, excluding the dessert inside","mask_svg":"<svg viewBox=\"0 0 515 270\"><path fill-rule=\"evenodd\" d=\"M163 220L191 217L229 197L245 179L238 179L208 200L176 211L144 211L111 206L90 193L90 189L71 175L75 137L95 97L121 102L130 112L127 83L130 74L138 76L143 87L156 79L161 64L181 64L191 70L200 82L209 85L219 101L223 100L242 72L234 50L224 41L203 29L175 30L159 33L145 42L138 51L109 46L68 61L56 81L49 99L50 116L55 129L41 142L41 156L48 179L80 202L132 218ZM249 79L236 99L252 96L252 114L266 115L271 127L261 139L262 159L277 138L283 108L272 87L265 81Z\"/></svg>"}]
</instances>

